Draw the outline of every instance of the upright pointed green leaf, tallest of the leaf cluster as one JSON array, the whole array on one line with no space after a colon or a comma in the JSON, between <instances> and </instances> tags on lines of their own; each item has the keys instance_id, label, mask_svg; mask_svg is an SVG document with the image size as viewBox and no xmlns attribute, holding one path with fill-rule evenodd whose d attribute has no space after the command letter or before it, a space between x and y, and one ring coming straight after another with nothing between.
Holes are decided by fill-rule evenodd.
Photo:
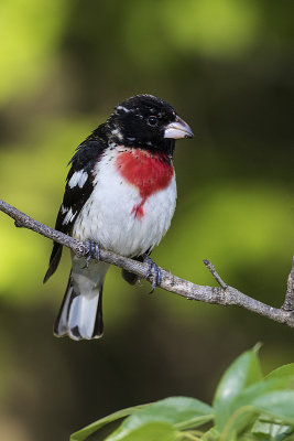
<instances>
[{"instance_id":1,"label":"upright pointed green leaf, tallest of the leaf cluster","mask_svg":"<svg viewBox=\"0 0 294 441\"><path fill-rule=\"evenodd\" d=\"M231 416L231 405L248 386L262 378L258 357L259 346L240 355L225 372L215 398L216 427L221 431Z\"/></svg>"}]
</instances>

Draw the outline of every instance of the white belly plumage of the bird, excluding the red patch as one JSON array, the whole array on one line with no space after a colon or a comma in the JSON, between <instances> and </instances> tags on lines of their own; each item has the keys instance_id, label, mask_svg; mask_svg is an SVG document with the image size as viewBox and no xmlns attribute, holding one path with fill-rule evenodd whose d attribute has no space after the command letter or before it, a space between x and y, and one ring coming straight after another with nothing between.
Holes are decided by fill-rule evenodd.
<instances>
[{"instance_id":1,"label":"white belly plumage of the bird, excluding the red patch","mask_svg":"<svg viewBox=\"0 0 294 441\"><path fill-rule=\"evenodd\" d=\"M166 189L146 198L140 217L133 209L142 202L139 191L115 170L115 159L116 153L110 151L96 165L95 189L75 222L73 236L92 239L122 256L140 256L157 245L171 225L175 176Z\"/></svg>"}]
</instances>

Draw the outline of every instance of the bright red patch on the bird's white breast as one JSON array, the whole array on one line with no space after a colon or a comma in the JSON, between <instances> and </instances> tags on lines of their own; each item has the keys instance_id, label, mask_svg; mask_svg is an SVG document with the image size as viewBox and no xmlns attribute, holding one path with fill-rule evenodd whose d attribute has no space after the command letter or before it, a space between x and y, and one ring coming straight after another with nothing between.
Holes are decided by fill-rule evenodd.
<instances>
[{"instance_id":1,"label":"bright red patch on the bird's white breast","mask_svg":"<svg viewBox=\"0 0 294 441\"><path fill-rule=\"evenodd\" d=\"M126 181L139 190L142 197L140 205L132 209L135 217L143 216L143 204L146 198L166 189L174 175L173 164L166 155L140 149L119 153L116 165Z\"/></svg>"}]
</instances>

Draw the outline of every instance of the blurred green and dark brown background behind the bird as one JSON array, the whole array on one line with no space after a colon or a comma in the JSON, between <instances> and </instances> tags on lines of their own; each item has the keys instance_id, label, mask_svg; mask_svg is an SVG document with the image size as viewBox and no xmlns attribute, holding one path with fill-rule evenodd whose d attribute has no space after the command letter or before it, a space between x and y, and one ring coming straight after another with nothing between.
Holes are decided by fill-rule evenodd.
<instances>
[{"instance_id":1,"label":"blurred green and dark brown background behind the bird","mask_svg":"<svg viewBox=\"0 0 294 441\"><path fill-rule=\"evenodd\" d=\"M1 197L54 226L66 164L115 105L150 93L195 138L177 142L178 204L154 251L214 284L202 260L280 306L293 255L293 1L1 0ZM53 337L68 252L46 286L50 240L0 214L0 438L66 440L122 407L211 400L228 364L263 342L264 372L294 361L294 330L188 302L111 268L101 341Z\"/></svg>"}]
</instances>

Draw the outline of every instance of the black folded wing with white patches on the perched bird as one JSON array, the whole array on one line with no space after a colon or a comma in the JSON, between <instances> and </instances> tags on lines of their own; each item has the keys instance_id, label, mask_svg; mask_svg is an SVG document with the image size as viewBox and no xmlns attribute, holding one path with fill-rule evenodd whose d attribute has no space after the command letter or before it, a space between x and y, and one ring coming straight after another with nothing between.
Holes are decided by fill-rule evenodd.
<instances>
[{"instance_id":1,"label":"black folded wing with white patches on the perched bird","mask_svg":"<svg viewBox=\"0 0 294 441\"><path fill-rule=\"evenodd\" d=\"M92 169L107 147L97 131L78 146L77 152L69 161L68 165L72 166L66 178L64 198L55 223L55 229L58 232L70 234L75 219L92 192ZM44 283L56 271L62 252L63 246L54 243Z\"/></svg>"}]
</instances>

